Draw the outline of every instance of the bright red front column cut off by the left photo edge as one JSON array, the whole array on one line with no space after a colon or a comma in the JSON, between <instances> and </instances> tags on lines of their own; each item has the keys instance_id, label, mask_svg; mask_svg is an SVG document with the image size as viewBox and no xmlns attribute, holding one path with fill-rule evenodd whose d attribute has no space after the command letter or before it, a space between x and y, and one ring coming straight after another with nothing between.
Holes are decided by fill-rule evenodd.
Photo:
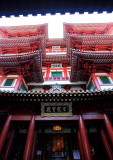
<instances>
[{"instance_id":1,"label":"bright red front column cut off by the left photo edge","mask_svg":"<svg viewBox=\"0 0 113 160\"><path fill-rule=\"evenodd\" d=\"M5 124L4 124L4 127L2 129L2 132L1 132L1 135L0 135L0 154L2 152L2 149L4 147L4 143L5 143L5 140L6 140L6 137L7 137L7 133L9 131L9 127L10 127L10 123L11 123L11 115L8 116Z\"/></svg>"}]
</instances>

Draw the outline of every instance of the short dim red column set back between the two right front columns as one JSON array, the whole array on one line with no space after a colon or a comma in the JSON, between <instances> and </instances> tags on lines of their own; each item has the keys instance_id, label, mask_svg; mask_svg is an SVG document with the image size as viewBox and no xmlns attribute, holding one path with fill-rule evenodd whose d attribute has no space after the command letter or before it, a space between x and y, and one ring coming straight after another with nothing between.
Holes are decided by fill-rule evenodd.
<instances>
[{"instance_id":1,"label":"short dim red column set back between the two right front columns","mask_svg":"<svg viewBox=\"0 0 113 160\"><path fill-rule=\"evenodd\" d=\"M104 130L101 130L100 134L101 134L102 142L104 144L104 148L106 150L107 157L109 160L113 160L113 152L112 152L111 146L108 142L108 139L106 137Z\"/></svg>"}]
</instances>

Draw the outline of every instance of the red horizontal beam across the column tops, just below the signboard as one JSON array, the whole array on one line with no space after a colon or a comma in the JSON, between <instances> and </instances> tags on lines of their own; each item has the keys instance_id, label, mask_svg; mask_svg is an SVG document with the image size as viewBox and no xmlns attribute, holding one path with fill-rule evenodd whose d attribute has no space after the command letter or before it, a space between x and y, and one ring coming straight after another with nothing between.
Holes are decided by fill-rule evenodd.
<instances>
[{"instance_id":1,"label":"red horizontal beam across the column tops, just below the signboard","mask_svg":"<svg viewBox=\"0 0 113 160\"><path fill-rule=\"evenodd\" d=\"M32 116L27 115L13 115L12 121L30 121ZM101 120L104 119L103 114L95 115L83 115L83 120ZM79 120L79 115L73 115L72 117L41 117L35 116L36 121L74 121Z\"/></svg>"}]
</instances>

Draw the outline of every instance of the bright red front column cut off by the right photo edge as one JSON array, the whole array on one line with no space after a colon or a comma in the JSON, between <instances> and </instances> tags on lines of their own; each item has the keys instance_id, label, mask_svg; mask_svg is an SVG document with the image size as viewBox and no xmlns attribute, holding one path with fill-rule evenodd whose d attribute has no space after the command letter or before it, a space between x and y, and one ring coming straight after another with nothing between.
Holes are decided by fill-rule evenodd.
<instances>
[{"instance_id":1,"label":"bright red front column cut off by the right photo edge","mask_svg":"<svg viewBox=\"0 0 113 160\"><path fill-rule=\"evenodd\" d=\"M109 138L111 140L111 143L113 145L113 127L112 127L112 124L106 114L104 114L104 123L105 123L106 129L107 129L107 132L109 134Z\"/></svg>"}]
</instances>

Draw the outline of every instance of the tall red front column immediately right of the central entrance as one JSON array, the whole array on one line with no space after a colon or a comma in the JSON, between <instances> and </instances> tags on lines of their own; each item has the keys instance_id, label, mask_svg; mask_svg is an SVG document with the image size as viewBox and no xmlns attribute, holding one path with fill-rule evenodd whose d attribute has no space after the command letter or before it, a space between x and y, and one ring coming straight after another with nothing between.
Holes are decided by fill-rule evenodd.
<instances>
[{"instance_id":1,"label":"tall red front column immediately right of the central entrance","mask_svg":"<svg viewBox=\"0 0 113 160\"><path fill-rule=\"evenodd\" d=\"M80 131L80 136L81 136L82 145L83 145L84 158L85 160L92 160L88 137L87 137L85 124L82 116L80 116L79 118L79 131Z\"/></svg>"}]
</instances>

